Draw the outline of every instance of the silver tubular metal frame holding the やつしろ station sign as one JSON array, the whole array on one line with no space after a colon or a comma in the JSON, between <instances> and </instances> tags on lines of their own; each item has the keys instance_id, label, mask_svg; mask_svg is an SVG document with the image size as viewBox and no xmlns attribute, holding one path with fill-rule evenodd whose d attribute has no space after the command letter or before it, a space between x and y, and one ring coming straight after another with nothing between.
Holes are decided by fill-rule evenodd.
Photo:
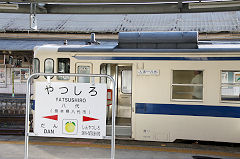
<instances>
[{"instance_id":1,"label":"silver tubular metal frame holding the \u3084\u3064\u3057\u308d station sign","mask_svg":"<svg viewBox=\"0 0 240 159\"><path fill-rule=\"evenodd\" d=\"M74 77L105 77L110 79L113 85L113 92L112 92L112 135L106 136L105 139L111 139L111 159L115 158L115 121L116 121L116 83L115 80L110 75L104 74L74 74L74 73L34 73L30 75L27 79L27 92L26 92L26 115L25 115L25 143L24 143L24 159L28 159L29 154L29 137L30 136L38 136L34 133L30 133L29 128L29 112L30 112L30 96L31 96L31 81L34 77L38 76L74 76ZM47 78L47 82L50 82L50 78ZM91 83L94 83L92 80Z\"/></svg>"}]
</instances>

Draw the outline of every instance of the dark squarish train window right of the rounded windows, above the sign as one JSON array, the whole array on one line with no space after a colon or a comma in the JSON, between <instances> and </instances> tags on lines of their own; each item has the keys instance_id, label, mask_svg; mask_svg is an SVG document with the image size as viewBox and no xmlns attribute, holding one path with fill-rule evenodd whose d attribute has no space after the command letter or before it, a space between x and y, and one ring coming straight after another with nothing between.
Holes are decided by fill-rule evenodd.
<instances>
[{"instance_id":1,"label":"dark squarish train window right of the rounded windows, above the sign","mask_svg":"<svg viewBox=\"0 0 240 159\"><path fill-rule=\"evenodd\" d=\"M70 73L70 59L58 58L58 73ZM58 76L58 80L69 80L69 76Z\"/></svg>"}]
</instances>

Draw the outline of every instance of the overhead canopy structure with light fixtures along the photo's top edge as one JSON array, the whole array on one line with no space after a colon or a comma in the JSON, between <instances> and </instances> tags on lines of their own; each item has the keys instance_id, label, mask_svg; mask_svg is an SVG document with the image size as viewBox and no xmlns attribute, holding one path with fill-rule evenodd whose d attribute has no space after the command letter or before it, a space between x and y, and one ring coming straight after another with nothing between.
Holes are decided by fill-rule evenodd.
<instances>
[{"instance_id":1,"label":"overhead canopy structure with light fixtures along the photo's top edge","mask_svg":"<svg viewBox=\"0 0 240 159\"><path fill-rule=\"evenodd\" d=\"M131 3L129 3L131 2ZM238 11L236 0L2 0L0 13L36 14L161 14Z\"/></svg>"}]
</instances>

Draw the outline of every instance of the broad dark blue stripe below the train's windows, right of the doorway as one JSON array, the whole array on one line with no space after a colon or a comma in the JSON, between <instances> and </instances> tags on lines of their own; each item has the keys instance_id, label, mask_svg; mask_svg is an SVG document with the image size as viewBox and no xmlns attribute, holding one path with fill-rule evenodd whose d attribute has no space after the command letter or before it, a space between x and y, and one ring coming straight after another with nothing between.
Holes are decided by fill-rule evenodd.
<instances>
[{"instance_id":1,"label":"broad dark blue stripe below the train's windows, right of the doorway","mask_svg":"<svg viewBox=\"0 0 240 159\"><path fill-rule=\"evenodd\" d=\"M240 107L136 103L136 113L240 118Z\"/></svg>"}]
</instances>

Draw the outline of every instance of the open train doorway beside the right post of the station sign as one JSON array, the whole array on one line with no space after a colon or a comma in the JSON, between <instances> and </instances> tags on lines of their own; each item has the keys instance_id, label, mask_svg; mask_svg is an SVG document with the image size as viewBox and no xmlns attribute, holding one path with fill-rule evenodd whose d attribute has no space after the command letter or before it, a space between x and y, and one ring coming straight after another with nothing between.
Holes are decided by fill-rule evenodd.
<instances>
[{"instance_id":1,"label":"open train doorway beside the right post of the station sign","mask_svg":"<svg viewBox=\"0 0 240 159\"><path fill-rule=\"evenodd\" d=\"M101 74L111 75L117 84L116 91L116 135L131 137L131 112L132 112L132 66L126 64L102 64ZM101 79L101 82L107 83L109 93L113 87L110 81ZM111 131L111 103L108 101L107 106L107 134L110 135Z\"/></svg>"}]
</instances>

